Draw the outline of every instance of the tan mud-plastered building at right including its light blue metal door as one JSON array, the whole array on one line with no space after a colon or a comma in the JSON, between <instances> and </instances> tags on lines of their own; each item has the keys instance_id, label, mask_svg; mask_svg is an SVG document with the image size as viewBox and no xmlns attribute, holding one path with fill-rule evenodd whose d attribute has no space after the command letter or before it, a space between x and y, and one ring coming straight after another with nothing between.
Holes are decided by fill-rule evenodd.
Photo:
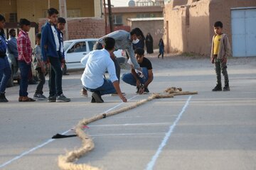
<instances>
[{"instance_id":1,"label":"tan mud-plastered building at right including its light blue metal door","mask_svg":"<svg viewBox=\"0 0 256 170\"><path fill-rule=\"evenodd\" d=\"M256 1L172 0L164 7L164 42L168 52L209 55L213 24L222 21L233 56L256 56Z\"/></svg>"}]
</instances>

